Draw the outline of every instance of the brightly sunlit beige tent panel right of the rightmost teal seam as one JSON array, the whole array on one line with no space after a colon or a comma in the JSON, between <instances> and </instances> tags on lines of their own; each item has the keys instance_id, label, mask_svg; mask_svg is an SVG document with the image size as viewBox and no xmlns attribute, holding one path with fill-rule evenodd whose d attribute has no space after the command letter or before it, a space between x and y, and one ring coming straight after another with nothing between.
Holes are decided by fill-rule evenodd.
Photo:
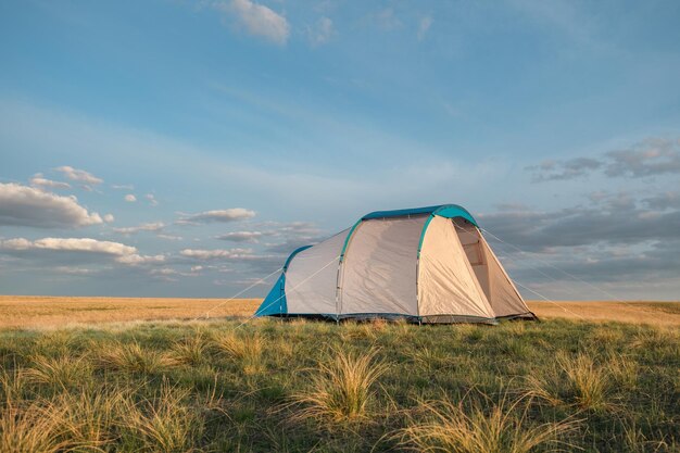
<instances>
[{"instance_id":1,"label":"brightly sunlit beige tent panel right of the rightmost teal seam","mask_svg":"<svg viewBox=\"0 0 680 453\"><path fill-rule=\"evenodd\" d=\"M418 303L420 316L494 317L449 218L435 216L423 240Z\"/></svg>"}]
</instances>

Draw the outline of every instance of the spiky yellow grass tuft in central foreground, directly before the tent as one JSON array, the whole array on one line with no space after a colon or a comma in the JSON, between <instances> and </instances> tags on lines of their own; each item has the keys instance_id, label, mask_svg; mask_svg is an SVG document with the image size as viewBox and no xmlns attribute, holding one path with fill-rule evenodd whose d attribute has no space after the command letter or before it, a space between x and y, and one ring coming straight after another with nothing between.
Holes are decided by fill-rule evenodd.
<instances>
[{"instance_id":1,"label":"spiky yellow grass tuft in central foreground, directly before the tent","mask_svg":"<svg viewBox=\"0 0 680 453\"><path fill-rule=\"evenodd\" d=\"M375 361L377 351L353 354L332 351L329 362L320 362L310 376L310 389L292 397L300 406L293 419L349 421L364 418L373 397L372 386L387 372Z\"/></svg>"}]
</instances>

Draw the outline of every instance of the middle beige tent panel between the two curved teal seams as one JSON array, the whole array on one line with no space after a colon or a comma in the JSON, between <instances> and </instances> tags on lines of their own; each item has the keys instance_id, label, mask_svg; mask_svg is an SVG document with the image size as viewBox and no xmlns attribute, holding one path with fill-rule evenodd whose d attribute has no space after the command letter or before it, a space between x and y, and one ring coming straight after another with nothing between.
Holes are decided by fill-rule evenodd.
<instances>
[{"instance_id":1,"label":"middle beige tent panel between the two curved teal seams","mask_svg":"<svg viewBox=\"0 0 680 453\"><path fill-rule=\"evenodd\" d=\"M417 315L416 263L427 215L362 222L341 268L340 314Z\"/></svg>"}]
</instances>

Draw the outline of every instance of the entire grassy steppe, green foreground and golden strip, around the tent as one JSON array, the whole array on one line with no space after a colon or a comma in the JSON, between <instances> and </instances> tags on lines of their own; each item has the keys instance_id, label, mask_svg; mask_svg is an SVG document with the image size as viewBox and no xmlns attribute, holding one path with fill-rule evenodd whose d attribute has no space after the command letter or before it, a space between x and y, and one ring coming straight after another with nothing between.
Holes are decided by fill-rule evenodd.
<instances>
[{"instance_id":1,"label":"entire grassy steppe, green foreground and golden strip, around the tent","mask_svg":"<svg viewBox=\"0 0 680 453\"><path fill-rule=\"evenodd\" d=\"M680 452L680 303L417 326L259 302L0 297L0 452Z\"/></svg>"}]
</instances>

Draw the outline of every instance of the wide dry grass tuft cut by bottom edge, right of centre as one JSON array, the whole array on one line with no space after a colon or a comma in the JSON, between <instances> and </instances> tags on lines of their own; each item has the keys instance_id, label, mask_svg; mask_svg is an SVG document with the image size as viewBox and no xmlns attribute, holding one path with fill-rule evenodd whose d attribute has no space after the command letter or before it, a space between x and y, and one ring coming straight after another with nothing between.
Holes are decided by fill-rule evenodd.
<instances>
[{"instance_id":1,"label":"wide dry grass tuft cut by bottom edge, right of centre","mask_svg":"<svg viewBox=\"0 0 680 453\"><path fill-rule=\"evenodd\" d=\"M408 426L396 437L400 445L418 452L527 453L557 451L559 438L576 430L577 420L531 424L529 405L520 408L528 394L498 404L489 398L469 395L458 404L449 400L421 403L420 416L407 416Z\"/></svg>"}]
</instances>

